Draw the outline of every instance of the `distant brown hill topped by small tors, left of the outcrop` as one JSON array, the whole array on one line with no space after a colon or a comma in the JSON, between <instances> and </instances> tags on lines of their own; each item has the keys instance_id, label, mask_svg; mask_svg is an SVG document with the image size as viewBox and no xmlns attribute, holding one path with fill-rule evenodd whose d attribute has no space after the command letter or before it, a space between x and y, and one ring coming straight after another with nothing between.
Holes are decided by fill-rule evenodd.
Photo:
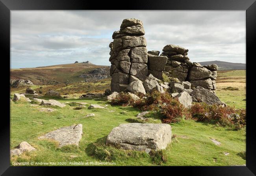
<instances>
[{"instance_id":1,"label":"distant brown hill topped by small tors, left of the outcrop","mask_svg":"<svg viewBox=\"0 0 256 176\"><path fill-rule=\"evenodd\" d=\"M30 80L35 85L94 81L109 77L109 66L87 62L51 65L46 67L11 69L10 79Z\"/></svg>"}]
</instances>

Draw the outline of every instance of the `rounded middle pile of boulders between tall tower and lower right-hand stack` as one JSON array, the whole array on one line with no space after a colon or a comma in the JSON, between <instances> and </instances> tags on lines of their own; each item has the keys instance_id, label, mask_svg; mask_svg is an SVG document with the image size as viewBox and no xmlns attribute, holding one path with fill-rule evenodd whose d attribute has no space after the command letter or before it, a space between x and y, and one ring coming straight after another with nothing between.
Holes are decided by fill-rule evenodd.
<instances>
[{"instance_id":1,"label":"rounded middle pile of boulders between tall tower and lower right-hand stack","mask_svg":"<svg viewBox=\"0 0 256 176\"><path fill-rule=\"evenodd\" d=\"M163 47L160 56L167 56L165 65L165 74L171 78L178 78L179 81L186 81L189 70L189 57L187 57L188 49L174 44L167 44Z\"/></svg>"}]
</instances>

